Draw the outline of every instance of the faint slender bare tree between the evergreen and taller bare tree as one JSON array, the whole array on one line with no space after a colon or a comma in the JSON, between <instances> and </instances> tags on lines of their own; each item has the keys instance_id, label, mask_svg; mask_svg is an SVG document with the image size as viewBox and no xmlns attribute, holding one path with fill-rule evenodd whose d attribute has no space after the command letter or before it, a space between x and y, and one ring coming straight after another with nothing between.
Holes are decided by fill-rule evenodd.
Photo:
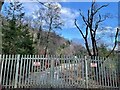
<instances>
[{"instance_id":1,"label":"faint slender bare tree between the evergreen and taller bare tree","mask_svg":"<svg viewBox=\"0 0 120 90\"><path fill-rule=\"evenodd\" d=\"M45 22L45 8L39 8L39 10L34 12L34 15L36 16L35 19L33 19L34 22L34 28L36 28L37 31L37 53L40 54L41 51L41 46L42 46L42 41L43 41L43 27L44 27L44 22Z\"/></svg>"}]
</instances>

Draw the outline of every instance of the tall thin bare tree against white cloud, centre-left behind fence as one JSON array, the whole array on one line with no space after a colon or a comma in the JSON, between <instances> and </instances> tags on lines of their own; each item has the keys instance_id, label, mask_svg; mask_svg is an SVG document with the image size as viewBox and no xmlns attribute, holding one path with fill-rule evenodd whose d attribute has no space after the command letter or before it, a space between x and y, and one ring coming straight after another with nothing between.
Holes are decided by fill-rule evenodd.
<instances>
[{"instance_id":1,"label":"tall thin bare tree against white cloud, centre-left behind fence","mask_svg":"<svg viewBox=\"0 0 120 90\"><path fill-rule=\"evenodd\" d=\"M47 13L46 13L46 25L48 27L48 33L46 36L46 46L45 46L45 55L47 54L48 46L50 43L50 32L54 31L55 29L61 29L63 25L61 17L60 17L60 8L56 4L48 4L47 5Z\"/></svg>"}]
</instances>

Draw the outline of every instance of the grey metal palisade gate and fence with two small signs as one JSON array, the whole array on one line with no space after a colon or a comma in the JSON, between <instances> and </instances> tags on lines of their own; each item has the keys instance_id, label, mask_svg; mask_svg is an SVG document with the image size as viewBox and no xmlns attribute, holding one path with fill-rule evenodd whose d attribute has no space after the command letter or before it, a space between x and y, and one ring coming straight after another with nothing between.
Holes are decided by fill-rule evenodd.
<instances>
[{"instance_id":1,"label":"grey metal palisade gate and fence with two small signs","mask_svg":"<svg viewBox=\"0 0 120 90\"><path fill-rule=\"evenodd\" d=\"M0 55L3 88L118 88L117 72L100 57Z\"/></svg>"}]
</instances>

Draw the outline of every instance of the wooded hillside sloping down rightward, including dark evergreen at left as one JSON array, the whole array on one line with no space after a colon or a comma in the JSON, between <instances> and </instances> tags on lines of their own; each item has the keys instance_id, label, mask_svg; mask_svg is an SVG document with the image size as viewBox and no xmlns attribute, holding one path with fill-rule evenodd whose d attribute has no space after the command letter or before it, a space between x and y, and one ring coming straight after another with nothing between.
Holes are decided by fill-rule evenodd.
<instances>
[{"instance_id":1,"label":"wooded hillside sloping down rightward, including dark evergreen at left","mask_svg":"<svg viewBox=\"0 0 120 90\"><path fill-rule=\"evenodd\" d=\"M6 15L2 16L2 53L73 55L83 54L85 48L69 41L54 31L37 30L24 21L22 4L10 3ZM47 51L46 50L47 46Z\"/></svg>"}]
</instances>

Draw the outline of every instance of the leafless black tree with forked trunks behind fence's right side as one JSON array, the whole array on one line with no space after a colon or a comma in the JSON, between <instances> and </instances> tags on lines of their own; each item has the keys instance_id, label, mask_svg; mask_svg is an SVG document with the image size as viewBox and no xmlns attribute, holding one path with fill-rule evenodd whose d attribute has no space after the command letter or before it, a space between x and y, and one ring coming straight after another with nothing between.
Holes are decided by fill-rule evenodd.
<instances>
[{"instance_id":1,"label":"leafless black tree with forked trunks behind fence's right side","mask_svg":"<svg viewBox=\"0 0 120 90\"><path fill-rule=\"evenodd\" d=\"M77 24L77 20L75 19L75 22L74 22L75 26L79 30L80 34L82 35L82 37L85 41L85 46L86 46L89 56L98 56L99 55L98 46L97 46L97 38L96 38L97 30L98 30L100 24L108 18L108 15L101 15L100 10L107 6L108 6L108 4L96 7L96 2L92 2L90 9L88 9L87 17L85 17L85 15L80 10L80 16L82 17L82 20L85 23L85 28L86 28L85 34L83 33L82 29ZM116 39L118 36L118 31L119 30L117 29L117 32L115 35L114 47L106 57L108 57L114 51L114 49L117 45ZM88 35L90 35L92 48L89 47L90 43L88 43Z\"/></svg>"}]
</instances>

